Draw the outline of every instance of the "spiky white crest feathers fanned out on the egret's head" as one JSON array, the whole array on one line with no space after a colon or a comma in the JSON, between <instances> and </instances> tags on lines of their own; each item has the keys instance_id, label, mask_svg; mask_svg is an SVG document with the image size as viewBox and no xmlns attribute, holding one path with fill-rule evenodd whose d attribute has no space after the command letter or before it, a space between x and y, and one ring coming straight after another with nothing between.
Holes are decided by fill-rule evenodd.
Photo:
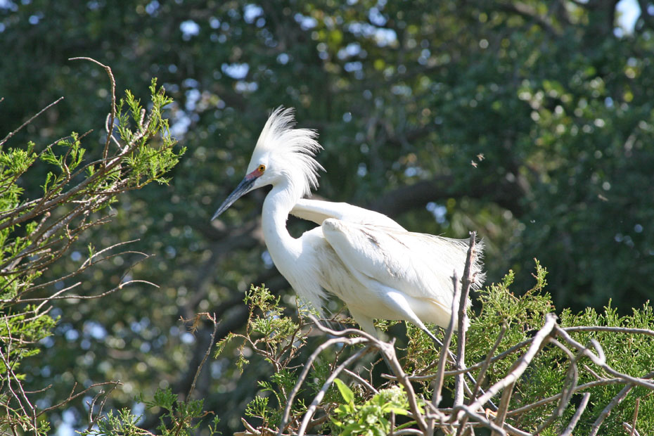
<instances>
[{"instance_id":1,"label":"spiky white crest feathers fanned out on the egret's head","mask_svg":"<svg viewBox=\"0 0 654 436\"><path fill-rule=\"evenodd\" d=\"M312 129L294 129L295 117L293 108L276 108L264 126L257 146L255 156L269 153L279 165L281 172L289 181L300 183L302 196L309 195L312 188L318 187L318 171L325 169L314 159L322 146L316 141L318 134ZM293 177L292 172L300 172L304 177Z\"/></svg>"}]
</instances>

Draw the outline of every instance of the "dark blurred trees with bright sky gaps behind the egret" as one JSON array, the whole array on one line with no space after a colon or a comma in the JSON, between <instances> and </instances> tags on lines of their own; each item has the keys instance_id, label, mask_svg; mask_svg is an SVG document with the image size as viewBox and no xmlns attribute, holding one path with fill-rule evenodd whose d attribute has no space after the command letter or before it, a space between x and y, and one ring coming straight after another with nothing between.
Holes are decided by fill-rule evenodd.
<instances>
[{"instance_id":1,"label":"dark blurred trees with bright sky gaps behind the egret","mask_svg":"<svg viewBox=\"0 0 654 436\"><path fill-rule=\"evenodd\" d=\"M222 337L242 328L250 283L292 295L259 233L264 193L209 223L278 105L320 133L327 173L317 195L413 231L463 238L476 229L489 282L513 269L516 290L530 288L538 257L557 307L640 306L654 286L654 4L639 1L633 29L619 26L616 6L0 1L0 132L65 97L11 146L103 125L107 77L68 60L89 56L113 68L119 91L143 100L158 77L176 101L173 135L188 147L169 186L123 196L113 224L79 241L83 250L139 238L133 248L155 257L129 274L160 288L58 304L56 335L26 367L27 384L53 383L44 406L75 381L123 380L114 407L158 387L183 394L209 331L186 333L180 316L216 312ZM101 153L102 133L91 135L98 146L89 153ZM41 189L37 179L21 183L26 195ZM84 290L115 286L136 258L96 269ZM73 253L50 274L76 262ZM241 375L221 357L202 377L205 407L238 428L255 393L240 382L259 377L257 368ZM64 428L83 414L70 404L51 418Z\"/></svg>"}]
</instances>

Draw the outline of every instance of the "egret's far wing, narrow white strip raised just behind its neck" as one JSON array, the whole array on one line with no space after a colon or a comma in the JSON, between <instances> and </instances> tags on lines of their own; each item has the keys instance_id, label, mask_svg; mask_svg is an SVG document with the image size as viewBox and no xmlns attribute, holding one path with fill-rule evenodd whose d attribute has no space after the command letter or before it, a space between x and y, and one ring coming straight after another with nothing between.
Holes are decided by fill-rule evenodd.
<instances>
[{"instance_id":1,"label":"egret's far wing, narrow white strip raised just behind its neck","mask_svg":"<svg viewBox=\"0 0 654 436\"><path fill-rule=\"evenodd\" d=\"M334 218L340 219L344 222L352 222L357 224L371 224L376 226L383 226L389 229L399 231L406 231L404 227L397 224L385 214L373 212L372 210L357 207L348 203L333 203L331 201L312 200L309 198L302 198L290 211L295 217L307 219L316 224L322 225L326 219Z\"/></svg>"}]
</instances>

